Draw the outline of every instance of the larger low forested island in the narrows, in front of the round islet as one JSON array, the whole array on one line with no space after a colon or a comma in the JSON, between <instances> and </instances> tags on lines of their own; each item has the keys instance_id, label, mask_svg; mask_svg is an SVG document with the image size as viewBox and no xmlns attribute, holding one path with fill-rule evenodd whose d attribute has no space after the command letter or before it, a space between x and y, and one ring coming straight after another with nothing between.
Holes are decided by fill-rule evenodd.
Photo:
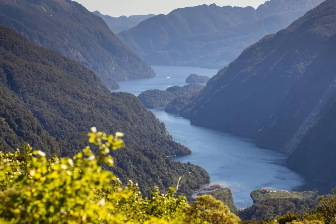
<instances>
[{"instance_id":1,"label":"larger low forested island in the narrows, in front of the round islet","mask_svg":"<svg viewBox=\"0 0 336 224\"><path fill-rule=\"evenodd\" d=\"M201 84L188 84L183 87L171 86L166 90L151 89L140 93L138 99L145 105L145 107L155 108L168 105L176 98L189 99L203 88L204 86Z\"/></svg>"}]
</instances>

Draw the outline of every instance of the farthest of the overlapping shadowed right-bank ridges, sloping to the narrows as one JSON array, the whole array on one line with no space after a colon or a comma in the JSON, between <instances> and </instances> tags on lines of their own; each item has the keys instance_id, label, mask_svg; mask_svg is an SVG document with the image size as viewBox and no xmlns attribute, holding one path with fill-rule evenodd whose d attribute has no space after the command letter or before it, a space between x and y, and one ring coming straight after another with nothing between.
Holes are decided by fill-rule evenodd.
<instances>
[{"instance_id":1,"label":"farthest of the overlapping shadowed right-bank ridges, sloping to the narrows","mask_svg":"<svg viewBox=\"0 0 336 224\"><path fill-rule=\"evenodd\" d=\"M185 107L192 123L254 137L336 32L333 1L248 47ZM202 119L201 119L202 118Z\"/></svg>"}]
</instances>

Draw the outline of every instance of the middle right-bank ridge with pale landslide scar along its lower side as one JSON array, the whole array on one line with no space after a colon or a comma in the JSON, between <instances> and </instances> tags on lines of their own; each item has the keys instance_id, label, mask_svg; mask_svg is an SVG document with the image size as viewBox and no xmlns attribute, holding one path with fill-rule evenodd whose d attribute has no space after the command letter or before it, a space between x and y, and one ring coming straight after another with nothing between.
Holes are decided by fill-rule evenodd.
<instances>
[{"instance_id":1,"label":"middle right-bank ridge with pale landslide scar along its lower side","mask_svg":"<svg viewBox=\"0 0 336 224\"><path fill-rule=\"evenodd\" d=\"M291 153L321 118L322 111L332 104L336 96L333 41L335 35L328 39L324 50L305 70L302 80L286 94L276 113L258 132L255 142L259 147Z\"/></svg>"}]
</instances>

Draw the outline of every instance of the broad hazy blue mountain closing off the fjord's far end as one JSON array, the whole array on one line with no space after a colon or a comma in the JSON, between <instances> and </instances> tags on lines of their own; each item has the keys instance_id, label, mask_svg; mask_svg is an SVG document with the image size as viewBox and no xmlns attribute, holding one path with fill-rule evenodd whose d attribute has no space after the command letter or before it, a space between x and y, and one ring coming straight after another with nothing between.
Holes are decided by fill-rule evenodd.
<instances>
[{"instance_id":1,"label":"broad hazy blue mountain closing off the fjord's far end","mask_svg":"<svg viewBox=\"0 0 336 224\"><path fill-rule=\"evenodd\" d=\"M246 47L324 0L270 0L257 9L215 4L175 9L118 34L149 63L223 68Z\"/></svg>"}]
</instances>

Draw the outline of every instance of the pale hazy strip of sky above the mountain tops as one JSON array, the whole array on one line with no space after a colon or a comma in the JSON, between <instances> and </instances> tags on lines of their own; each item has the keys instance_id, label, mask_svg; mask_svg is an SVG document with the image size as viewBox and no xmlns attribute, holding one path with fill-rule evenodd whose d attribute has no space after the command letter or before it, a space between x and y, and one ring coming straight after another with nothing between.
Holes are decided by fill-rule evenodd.
<instances>
[{"instance_id":1,"label":"pale hazy strip of sky above the mountain tops","mask_svg":"<svg viewBox=\"0 0 336 224\"><path fill-rule=\"evenodd\" d=\"M98 10L111 16L168 14L176 8L215 3L219 6L258 7L266 0L75 0L90 11Z\"/></svg>"}]
</instances>

